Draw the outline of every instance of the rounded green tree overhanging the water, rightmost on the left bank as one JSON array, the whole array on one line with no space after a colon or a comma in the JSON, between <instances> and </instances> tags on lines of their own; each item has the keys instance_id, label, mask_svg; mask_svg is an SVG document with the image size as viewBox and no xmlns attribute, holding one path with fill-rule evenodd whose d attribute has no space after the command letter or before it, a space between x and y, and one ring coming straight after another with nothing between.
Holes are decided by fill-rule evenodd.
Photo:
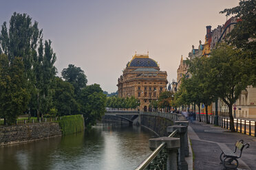
<instances>
[{"instance_id":1,"label":"rounded green tree overhanging the water, rightmost on the left bank","mask_svg":"<svg viewBox=\"0 0 256 170\"><path fill-rule=\"evenodd\" d=\"M85 117L85 125L90 127L105 114L106 95L99 84L86 86L81 90L78 102L81 104L81 112Z\"/></svg>"}]
</instances>

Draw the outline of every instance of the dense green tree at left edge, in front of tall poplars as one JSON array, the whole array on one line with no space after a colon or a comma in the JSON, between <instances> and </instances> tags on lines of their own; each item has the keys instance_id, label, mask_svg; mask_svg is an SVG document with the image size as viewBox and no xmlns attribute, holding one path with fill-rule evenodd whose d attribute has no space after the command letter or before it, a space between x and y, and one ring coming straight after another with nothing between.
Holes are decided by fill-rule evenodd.
<instances>
[{"instance_id":1,"label":"dense green tree at left edge, in front of tall poplars","mask_svg":"<svg viewBox=\"0 0 256 170\"><path fill-rule=\"evenodd\" d=\"M10 63L6 55L0 55L0 117L5 125L15 123L28 105L30 95L24 71L21 58Z\"/></svg>"}]
</instances>

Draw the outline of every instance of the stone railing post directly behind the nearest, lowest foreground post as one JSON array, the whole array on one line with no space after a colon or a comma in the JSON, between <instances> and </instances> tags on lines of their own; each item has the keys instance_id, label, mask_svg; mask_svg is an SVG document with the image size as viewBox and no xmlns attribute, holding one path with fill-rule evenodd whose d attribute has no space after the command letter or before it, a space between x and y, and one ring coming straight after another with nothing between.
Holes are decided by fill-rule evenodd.
<instances>
[{"instance_id":1,"label":"stone railing post directly behind the nearest, lowest foreground post","mask_svg":"<svg viewBox=\"0 0 256 170\"><path fill-rule=\"evenodd\" d=\"M178 130L178 134L180 135L180 155L179 155L179 169L187 170L188 164L185 160L185 134L187 132L187 127L184 125L172 125L167 127L167 132L171 133L175 130Z\"/></svg>"}]
</instances>

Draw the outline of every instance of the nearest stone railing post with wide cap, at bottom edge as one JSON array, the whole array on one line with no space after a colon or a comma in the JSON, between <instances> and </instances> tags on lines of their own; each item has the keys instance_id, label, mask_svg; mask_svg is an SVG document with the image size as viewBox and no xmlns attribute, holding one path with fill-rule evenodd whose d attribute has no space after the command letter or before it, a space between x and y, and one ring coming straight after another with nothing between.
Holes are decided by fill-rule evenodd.
<instances>
[{"instance_id":1,"label":"nearest stone railing post with wide cap, at bottom edge","mask_svg":"<svg viewBox=\"0 0 256 170\"><path fill-rule=\"evenodd\" d=\"M149 139L150 149L156 149L162 143L166 143L165 148L167 149L167 169L168 170L178 170L177 165L177 154L180 148L180 138L173 137L161 137L161 138L151 138Z\"/></svg>"}]
</instances>

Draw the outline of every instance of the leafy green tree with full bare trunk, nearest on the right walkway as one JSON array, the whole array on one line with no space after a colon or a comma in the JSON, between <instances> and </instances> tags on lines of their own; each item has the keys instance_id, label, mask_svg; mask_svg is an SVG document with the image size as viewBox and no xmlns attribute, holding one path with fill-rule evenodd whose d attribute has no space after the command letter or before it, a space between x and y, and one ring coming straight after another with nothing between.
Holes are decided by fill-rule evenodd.
<instances>
[{"instance_id":1,"label":"leafy green tree with full bare trunk, nearest on the right walkway","mask_svg":"<svg viewBox=\"0 0 256 170\"><path fill-rule=\"evenodd\" d=\"M242 90L252 84L255 76L250 70L253 59L246 58L247 54L246 51L222 43L211 52L208 61L210 68L206 73L209 77L208 83L212 84L211 88L215 91L215 95L228 106L231 132L235 132L232 106Z\"/></svg>"}]
</instances>

